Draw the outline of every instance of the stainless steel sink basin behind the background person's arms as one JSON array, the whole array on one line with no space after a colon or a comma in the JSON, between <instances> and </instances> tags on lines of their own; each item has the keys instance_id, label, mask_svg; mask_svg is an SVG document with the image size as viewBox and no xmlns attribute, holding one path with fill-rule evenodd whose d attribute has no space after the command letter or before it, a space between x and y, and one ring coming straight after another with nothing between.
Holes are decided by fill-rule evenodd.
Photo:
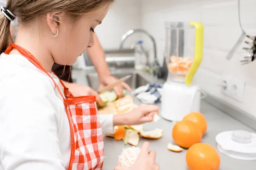
<instances>
[{"instance_id":1,"label":"stainless steel sink basin behind the background person's arms","mask_svg":"<svg viewBox=\"0 0 256 170\"><path fill-rule=\"evenodd\" d=\"M148 81L145 80L140 74L137 74L134 71L116 71L112 72L112 75L118 79L125 77L127 75L132 75L132 77L126 80L126 83L131 86L132 89L138 88L142 85L148 84ZM98 90L99 87L99 78L97 73L87 74L88 85L94 90Z\"/></svg>"}]
</instances>

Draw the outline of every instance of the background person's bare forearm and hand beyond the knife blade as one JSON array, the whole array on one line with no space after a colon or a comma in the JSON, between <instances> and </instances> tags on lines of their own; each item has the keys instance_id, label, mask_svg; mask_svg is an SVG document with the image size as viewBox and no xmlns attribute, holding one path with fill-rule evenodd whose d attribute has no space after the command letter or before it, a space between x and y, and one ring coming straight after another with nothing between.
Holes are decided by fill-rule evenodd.
<instances>
[{"instance_id":1,"label":"background person's bare forearm and hand beyond the knife blade","mask_svg":"<svg viewBox=\"0 0 256 170\"><path fill-rule=\"evenodd\" d=\"M105 59L105 52L100 45L99 39L96 34L93 34L94 45L91 48L87 49L87 55L90 58L90 61L94 65L97 73L99 74L99 89L103 88L106 85L109 85L117 80L116 77L111 76L111 72L108 68L108 63ZM131 91L131 87L126 83L122 83L119 86L114 88L116 94L122 96L122 88L126 88L128 91Z\"/></svg>"}]
</instances>

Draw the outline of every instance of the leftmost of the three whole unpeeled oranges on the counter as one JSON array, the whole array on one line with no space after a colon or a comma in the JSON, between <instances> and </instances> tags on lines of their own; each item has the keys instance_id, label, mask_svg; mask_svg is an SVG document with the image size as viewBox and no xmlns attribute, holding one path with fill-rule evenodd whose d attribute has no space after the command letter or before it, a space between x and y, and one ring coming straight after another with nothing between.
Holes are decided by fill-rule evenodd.
<instances>
[{"instance_id":1,"label":"leftmost of the three whole unpeeled oranges on the counter","mask_svg":"<svg viewBox=\"0 0 256 170\"><path fill-rule=\"evenodd\" d=\"M172 129L174 142L183 148L189 148L202 139L200 128L189 120L177 122Z\"/></svg>"}]
</instances>

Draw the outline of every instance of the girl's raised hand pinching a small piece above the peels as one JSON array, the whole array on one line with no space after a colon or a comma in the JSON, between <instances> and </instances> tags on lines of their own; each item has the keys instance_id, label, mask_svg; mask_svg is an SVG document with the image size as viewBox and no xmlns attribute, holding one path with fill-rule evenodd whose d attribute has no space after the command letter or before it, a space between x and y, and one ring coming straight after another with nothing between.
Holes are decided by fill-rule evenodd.
<instances>
[{"instance_id":1,"label":"girl's raised hand pinching a small piece above the peels","mask_svg":"<svg viewBox=\"0 0 256 170\"><path fill-rule=\"evenodd\" d=\"M141 125L152 122L155 113L158 114L158 106L141 104L128 113L114 115L113 125Z\"/></svg>"}]
</instances>

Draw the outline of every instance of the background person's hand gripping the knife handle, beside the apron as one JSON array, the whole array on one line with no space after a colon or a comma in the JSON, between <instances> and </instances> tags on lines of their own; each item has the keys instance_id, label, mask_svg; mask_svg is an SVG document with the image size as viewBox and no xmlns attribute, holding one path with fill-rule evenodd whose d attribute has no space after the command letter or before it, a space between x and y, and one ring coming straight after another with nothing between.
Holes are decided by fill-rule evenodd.
<instances>
[{"instance_id":1,"label":"background person's hand gripping the knife handle, beside the apron","mask_svg":"<svg viewBox=\"0 0 256 170\"><path fill-rule=\"evenodd\" d=\"M100 106L104 105L104 102L100 98L99 94L92 88L86 85L79 85L76 83L64 83L69 88L70 93L74 96L96 96L96 100Z\"/></svg>"}]
</instances>

